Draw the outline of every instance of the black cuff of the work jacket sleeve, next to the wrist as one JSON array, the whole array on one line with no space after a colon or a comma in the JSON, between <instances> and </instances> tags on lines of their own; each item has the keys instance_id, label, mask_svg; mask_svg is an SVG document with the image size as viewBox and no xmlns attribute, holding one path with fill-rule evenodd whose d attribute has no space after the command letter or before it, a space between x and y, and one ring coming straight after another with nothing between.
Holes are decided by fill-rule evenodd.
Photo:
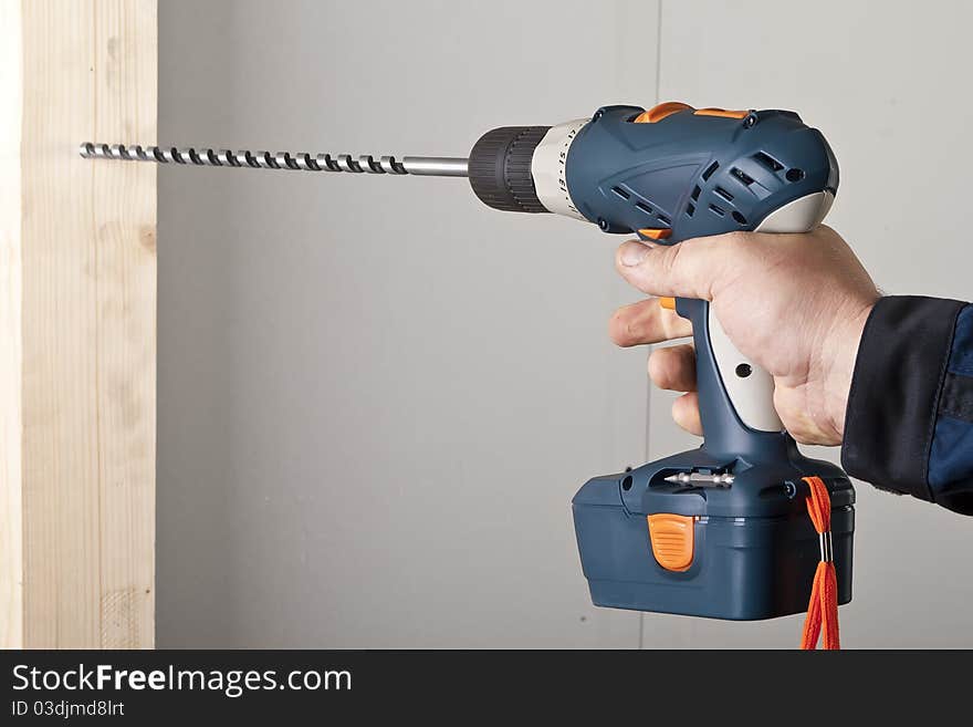
<instances>
[{"instance_id":1,"label":"black cuff of the work jacket sleeve, next to the wrist","mask_svg":"<svg viewBox=\"0 0 973 727\"><path fill-rule=\"evenodd\" d=\"M890 295L865 324L841 465L880 489L932 501L929 454L961 301Z\"/></svg>"}]
</instances>

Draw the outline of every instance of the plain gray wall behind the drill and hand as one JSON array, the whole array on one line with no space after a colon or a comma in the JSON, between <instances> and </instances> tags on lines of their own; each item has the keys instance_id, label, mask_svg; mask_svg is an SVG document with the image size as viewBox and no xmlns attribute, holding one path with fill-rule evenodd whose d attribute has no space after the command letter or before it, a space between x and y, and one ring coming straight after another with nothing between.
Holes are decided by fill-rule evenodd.
<instances>
[{"instance_id":1,"label":"plain gray wall behind the drill and hand","mask_svg":"<svg viewBox=\"0 0 973 727\"><path fill-rule=\"evenodd\" d=\"M793 107L838 154L829 221L879 284L969 299L971 21L945 1L166 0L159 141L462 155L603 103ZM588 601L574 491L692 442L646 352L605 334L637 299L617 239L450 179L163 168L159 202L159 646L796 644L798 619ZM858 494L845 644L973 646L973 525Z\"/></svg>"}]
</instances>

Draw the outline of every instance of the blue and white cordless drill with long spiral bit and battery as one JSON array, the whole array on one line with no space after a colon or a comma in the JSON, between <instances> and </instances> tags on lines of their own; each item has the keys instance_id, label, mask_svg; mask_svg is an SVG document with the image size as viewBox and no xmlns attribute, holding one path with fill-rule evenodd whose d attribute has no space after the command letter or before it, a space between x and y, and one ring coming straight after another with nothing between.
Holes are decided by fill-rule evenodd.
<instances>
[{"instance_id":1,"label":"blue and white cordless drill with long spiral bit and battery","mask_svg":"<svg viewBox=\"0 0 973 727\"><path fill-rule=\"evenodd\" d=\"M469 177L495 209L556 212L604 232L676 245L733 230L804 232L827 214L838 165L789 111L663 103L604 106L556 126L494 128L469 158L291 154L83 144L90 158L303 172ZM758 284L758 281L757 281ZM855 492L840 468L801 454L773 406L774 382L729 340L710 304L677 299L692 322L703 444L588 480L573 500L596 605L718 619L804 611L818 560L851 599ZM827 542L805 512L816 476Z\"/></svg>"}]
</instances>

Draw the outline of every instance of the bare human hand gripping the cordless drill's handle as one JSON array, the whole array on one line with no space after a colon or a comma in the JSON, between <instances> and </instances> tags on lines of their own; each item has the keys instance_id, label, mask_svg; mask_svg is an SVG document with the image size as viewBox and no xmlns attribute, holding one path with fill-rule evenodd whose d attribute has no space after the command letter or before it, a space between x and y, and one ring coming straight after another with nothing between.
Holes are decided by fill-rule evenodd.
<instances>
[{"instance_id":1,"label":"bare human hand gripping the cordless drill's handle","mask_svg":"<svg viewBox=\"0 0 973 727\"><path fill-rule=\"evenodd\" d=\"M841 443L858 344L880 293L837 232L731 232L668 247L634 240L618 249L616 267L650 295L710 301L736 349L774 377L774 407L794 438ZM650 298L618 309L609 333L634 346L692 335L692 326ZM686 392L672 418L701 435L692 346L653 351L649 376Z\"/></svg>"}]
</instances>

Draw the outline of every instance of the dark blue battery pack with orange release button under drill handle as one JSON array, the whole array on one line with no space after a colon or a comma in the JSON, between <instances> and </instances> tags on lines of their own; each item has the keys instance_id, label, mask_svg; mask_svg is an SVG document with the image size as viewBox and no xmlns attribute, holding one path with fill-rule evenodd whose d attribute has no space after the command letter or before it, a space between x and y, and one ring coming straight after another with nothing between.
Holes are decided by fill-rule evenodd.
<instances>
[{"instance_id":1,"label":"dark blue battery pack with orange release button under drill handle","mask_svg":"<svg viewBox=\"0 0 973 727\"><path fill-rule=\"evenodd\" d=\"M838 603L848 603L855 490L834 465L806 463L830 495ZM822 560L806 486L755 467L732 485L687 487L667 481L673 471L662 463L596 477L575 496L595 605L737 621L805 612Z\"/></svg>"}]
</instances>

